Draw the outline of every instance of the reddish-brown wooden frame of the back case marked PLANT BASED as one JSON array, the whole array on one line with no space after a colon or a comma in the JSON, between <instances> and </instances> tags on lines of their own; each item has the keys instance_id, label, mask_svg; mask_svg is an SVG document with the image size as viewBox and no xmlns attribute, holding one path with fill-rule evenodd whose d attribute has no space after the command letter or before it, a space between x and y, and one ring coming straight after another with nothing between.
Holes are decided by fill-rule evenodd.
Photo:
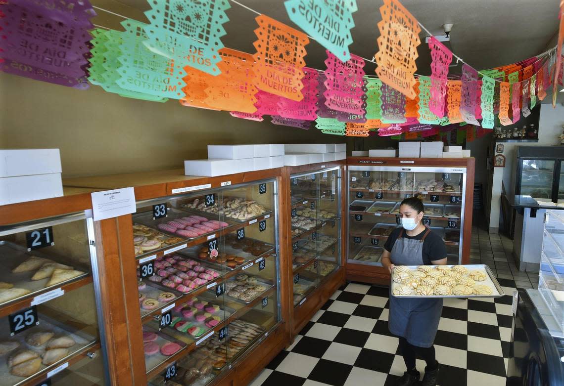
<instances>
[{"instance_id":1,"label":"reddish-brown wooden frame of the back case marked PLANT BASED","mask_svg":"<svg viewBox=\"0 0 564 386\"><path fill-rule=\"evenodd\" d=\"M475 159L469 158L387 158L387 157L347 157L347 165L352 166L403 166L403 167L465 167L466 168L466 195L464 197L464 229L462 232L462 264L470 261L470 240L472 238L472 210L474 204L474 168ZM349 194L349 182L346 179L346 194ZM354 189L352 189L354 190ZM394 191L394 193L398 193ZM399 192L401 193L401 192ZM411 193L411 192L408 192ZM444 193L443 193L444 194ZM450 196L452 194L449 194ZM345 194L343 194L345 196ZM346 204L345 204L346 207ZM346 208L347 218L349 214ZM349 237L346 236L346 240ZM347 251L348 251L348 242ZM373 283L388 286L390 273L384 267L377 265L358 264L347 261L346 279L363 283Z\"/></svg>"}]
</instances>

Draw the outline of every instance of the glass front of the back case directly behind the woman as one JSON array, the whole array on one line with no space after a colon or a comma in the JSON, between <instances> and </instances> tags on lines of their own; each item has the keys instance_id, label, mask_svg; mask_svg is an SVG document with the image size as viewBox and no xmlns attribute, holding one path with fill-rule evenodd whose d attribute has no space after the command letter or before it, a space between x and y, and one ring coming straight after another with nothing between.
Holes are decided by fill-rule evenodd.
<instances>
[{"instance_id":1,"label":"glass front of the back case directly behind the woman","mask_svg":"<svg viewBox=\"0 0 564 386\"><path fill-rule=\"evenodd\" d=\"M400 225L399 205L418 197L423 223L440 234L448 264L460 264L464 225L464 168L349 166L350 263L381 266L384 245Z\"/></svg>"}]
</instances>

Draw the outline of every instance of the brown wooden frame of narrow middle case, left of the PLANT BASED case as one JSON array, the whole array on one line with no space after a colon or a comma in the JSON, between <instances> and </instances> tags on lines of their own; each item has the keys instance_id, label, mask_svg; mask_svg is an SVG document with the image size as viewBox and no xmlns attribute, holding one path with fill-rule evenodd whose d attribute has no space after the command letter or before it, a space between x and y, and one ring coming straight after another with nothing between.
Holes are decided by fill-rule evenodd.
<instances>
[{"instance_id":1,"label":"brown wooden frame of narrow middle case, left of the PLANT BASED case","mask_svg":"<svg viewBox=\"0 0 564 386\"><path fill-rule=\"evenodd\" d=\"M332 161L332 162L320 162L320 163L312 163L311 165L302 165L302 166L287 166L284 167L284 180L287 181L288 188L286 190L281 190L285 194L285 197L281 199L281 207L280 207L280 214L281 217L286 219L284 229L280 229L280 234L283 235L283 238L280 238L280 243L285 241L286 249L288 251L288 265L284 266L287 269L287 276L289 277L288 282L288 294L293 294L293 282L291 279L294 276L293 268L292 268L292 219L290 217L290 211L292 210L292 199L290 198L290 176L293 174L301 174L307 172L323 172L325 169L333 168L333 167L340 167L341 168L341 197L340 197L340 205L341 205L341 261L340 265L329 276L327 276L323 282L319 283L319 286L316 287L312 292L310 292L307 296L305 301L302 304L293 305L293 297L290 299L290 321L292 325L291 329L291 339L293 340L294 337L305 327L307 322L314 316L318 310L323 307L323 305L329 300L329 297L333 295L333 293L338 290L342 285L345 284L345 265L346 265L346 243L343 240L346 239L346 221L347 221L347 212L346 212L346 197L345 197L345 175L346 175L346 162L343 159L342 161ZM311 230L312 232L313 230ZM310 233L311 233L310 232ZM305 232L307 233L307 232Z\"/></svg>"}]
</instances>

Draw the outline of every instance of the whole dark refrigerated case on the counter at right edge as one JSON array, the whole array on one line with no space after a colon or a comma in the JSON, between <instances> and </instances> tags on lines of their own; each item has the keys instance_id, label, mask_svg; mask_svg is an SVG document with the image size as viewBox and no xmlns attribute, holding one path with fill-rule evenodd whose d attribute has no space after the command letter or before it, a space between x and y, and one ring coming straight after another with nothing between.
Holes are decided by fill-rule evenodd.
<instances>
[{"instance_id":1,"label":"whole dark refrigerated case on the counter at right edge","mask_svg":"<svg viewBox=\"0 0 564 386\"><path fill-rule=\"evenodd\" d=\"M562 160L562 147L518 146L515 195L552 202L564 199Z\"/></svg>"}]
</instances>

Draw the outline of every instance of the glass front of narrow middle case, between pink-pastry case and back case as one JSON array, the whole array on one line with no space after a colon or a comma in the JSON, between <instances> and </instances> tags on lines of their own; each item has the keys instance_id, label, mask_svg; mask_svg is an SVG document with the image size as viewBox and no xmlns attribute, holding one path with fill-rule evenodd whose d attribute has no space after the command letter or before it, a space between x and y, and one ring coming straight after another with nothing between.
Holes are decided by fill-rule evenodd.
<instances>
[{"instance_id":1,"label":"glass front of narrow middle case, between pink-pastry case and back case","mask_svg":"<svg viewBox=\"0 0 564 386\"><path fill-rule=\"evenodd\" d=\"M341 168L290 175L294 306L340 267Z\"/></svg>"}]
</instances>

